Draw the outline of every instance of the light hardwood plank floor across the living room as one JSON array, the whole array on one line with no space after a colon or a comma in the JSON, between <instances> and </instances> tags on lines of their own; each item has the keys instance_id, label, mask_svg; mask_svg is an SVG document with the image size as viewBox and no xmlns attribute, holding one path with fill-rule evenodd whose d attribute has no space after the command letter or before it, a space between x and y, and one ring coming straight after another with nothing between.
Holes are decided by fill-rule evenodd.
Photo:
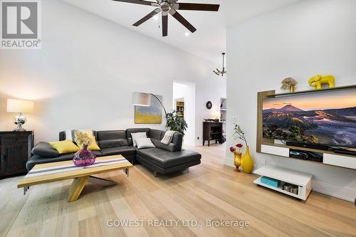
<instances>
[{"instance_id":1,"label":"light hardwood plank floor across the living room","mask_svg":"<svg viewBox=\"0 0 356 237\"><path fill-rule=\"evenodd\" d=\"M296 201L256 186L253 174L224 166L224 147L195 149L202 163L189 171L155 178L135 165L129 178L123 172L98 176L119 184L88 184L71 203L70 180L32 186L23 196L16 189L21 177L2 179L0 236L356 236L354 204L316 192ZM109 227L115 219L146 221ZM206 226L206 220L220 219L249 226ZM179 222L153 228L152 220ZM183 220L201 226L184 227Z\"/></svg>"}]
</instances>

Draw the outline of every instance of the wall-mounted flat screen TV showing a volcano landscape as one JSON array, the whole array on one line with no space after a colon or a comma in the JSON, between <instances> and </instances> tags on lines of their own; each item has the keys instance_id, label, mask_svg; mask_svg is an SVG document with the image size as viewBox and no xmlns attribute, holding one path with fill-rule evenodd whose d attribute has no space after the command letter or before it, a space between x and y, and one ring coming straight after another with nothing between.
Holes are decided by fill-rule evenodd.
<instances>
[{"instance_id":1,"label":"wall-mounted flat screen TV showing a volcano landscape","mask_svg":"<svg viewBox=\"0 0 356 237\"><path fill-rule=\"evenodd\" d=\"M356 88L264 99L263 138L356 148Z\"/></svg>"}]
</instances>

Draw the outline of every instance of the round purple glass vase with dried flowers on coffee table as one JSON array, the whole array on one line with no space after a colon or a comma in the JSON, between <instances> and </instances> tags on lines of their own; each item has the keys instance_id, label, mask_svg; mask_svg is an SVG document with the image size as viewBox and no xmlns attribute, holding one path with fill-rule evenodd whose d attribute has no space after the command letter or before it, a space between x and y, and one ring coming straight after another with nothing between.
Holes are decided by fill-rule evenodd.
<instances>
[{"instance_id":1,"label":"round purple glass vase with dried flowers on coffee table","mask_svg":"<svg viewBox=\"0 0 356 237\"><path fill-rule=\"evenodd\" d=\"M85 132L75 131L75 142L78 146L82 147L77 153L74 154L73 163L77 167L88 167L94 164L95 154L88 150L88 146L91 144L92 139Z\"/></svg>"}]
</instances>

